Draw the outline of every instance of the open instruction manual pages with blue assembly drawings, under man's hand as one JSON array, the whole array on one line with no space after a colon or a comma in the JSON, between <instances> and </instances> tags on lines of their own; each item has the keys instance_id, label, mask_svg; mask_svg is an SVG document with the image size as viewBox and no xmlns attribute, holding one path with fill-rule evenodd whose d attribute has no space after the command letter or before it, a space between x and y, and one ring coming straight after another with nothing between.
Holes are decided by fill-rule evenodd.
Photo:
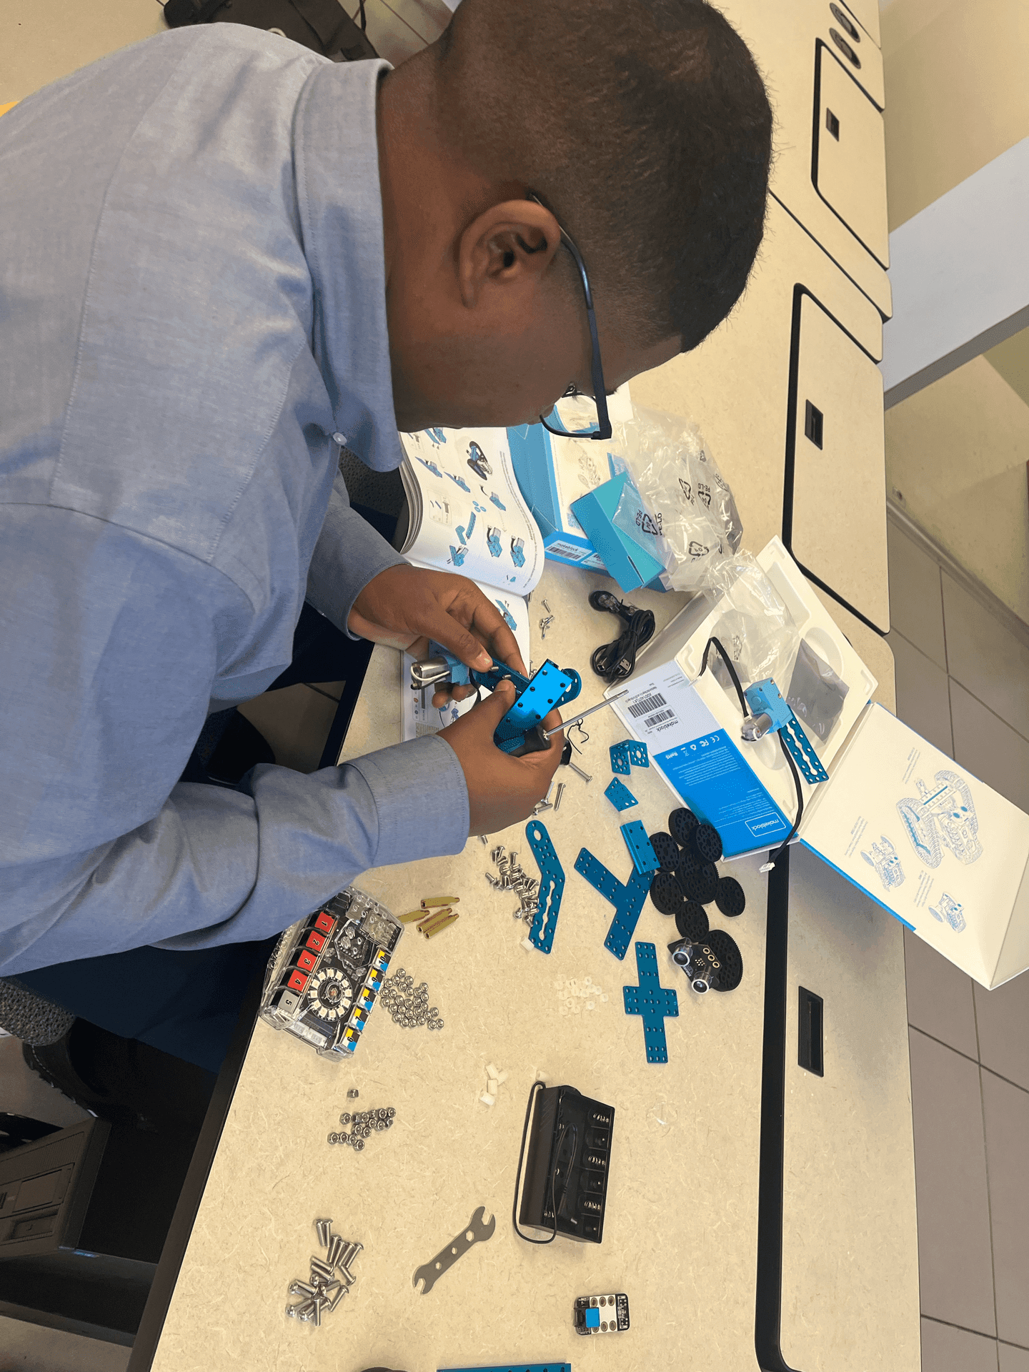
<instances>
[{"instance_id":1,"label":"open instruction manual pages with blue assembly drawings, under man's hand","mask_svg":"<svg viewBox=\"0 0 1029 1372\"><path fill-rule=\"evenodd\" d=\"M401 480L407 532L401 552L417 567L469 576L504 615L528 667L530 595L543 575L543 539L514 480L508 431L427 429L402 434ZM405 653L403 738L439 733L475 704L435 709L432 691L410 689Z\"/></svg>"}]
</instances>

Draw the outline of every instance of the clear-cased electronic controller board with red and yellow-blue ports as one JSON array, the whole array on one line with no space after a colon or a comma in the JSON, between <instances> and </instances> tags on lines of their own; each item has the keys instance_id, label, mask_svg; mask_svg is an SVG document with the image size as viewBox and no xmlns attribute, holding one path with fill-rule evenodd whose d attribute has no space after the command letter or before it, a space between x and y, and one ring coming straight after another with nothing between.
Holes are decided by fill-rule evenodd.
<instances>
[{"instance_id":1,"label":"clear-cased electronic controller board with red and yellow-blue ports","mask_svg":"<svg viewBox=\"0 0 1029 1372\"><path fill-rule=\"evenodd\" d=\"M268 965L261 1018L348 1058L364 1033L403 925L348 886L281 936Z\"/></svg>"}]
</instances>

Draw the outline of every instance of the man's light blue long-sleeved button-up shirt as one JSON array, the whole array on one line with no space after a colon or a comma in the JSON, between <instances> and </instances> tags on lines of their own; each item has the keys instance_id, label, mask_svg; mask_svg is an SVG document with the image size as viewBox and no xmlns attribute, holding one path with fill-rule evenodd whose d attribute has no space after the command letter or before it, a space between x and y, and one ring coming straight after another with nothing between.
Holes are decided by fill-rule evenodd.
<instances>
[{"instance_id":1,"label":"man's light blue long-sleeved button-up shirt","mask_svg":"<svg viewBox=\"0 0 1029 1372\"><path fill-rule=\"evenodd\" d=\"M346 628L401 561L338 475L340 435L401 460L383 70L213 25L0 119L0 974L263 937L465 842L439 738L177 783L305 594Z\"/></svg>"}]
</instances>

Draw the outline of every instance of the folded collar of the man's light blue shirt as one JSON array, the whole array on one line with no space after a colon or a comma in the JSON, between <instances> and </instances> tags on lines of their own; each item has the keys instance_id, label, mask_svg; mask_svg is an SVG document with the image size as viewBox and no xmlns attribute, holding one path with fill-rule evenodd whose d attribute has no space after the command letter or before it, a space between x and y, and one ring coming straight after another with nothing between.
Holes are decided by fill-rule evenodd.
<instances>
[{"instance_id":1,"label":"folded collar of the man's light blue shirt","mask_svg":"<svg viewBox=\"0 0 1029 1372\"><path fill-rule=\"evenodd\" d=\"M403 457L386 322L376 93L387 62L318 66L296 114L296 191L313 347L336 432L376 472Z\"/></svg>"}]
</instances>

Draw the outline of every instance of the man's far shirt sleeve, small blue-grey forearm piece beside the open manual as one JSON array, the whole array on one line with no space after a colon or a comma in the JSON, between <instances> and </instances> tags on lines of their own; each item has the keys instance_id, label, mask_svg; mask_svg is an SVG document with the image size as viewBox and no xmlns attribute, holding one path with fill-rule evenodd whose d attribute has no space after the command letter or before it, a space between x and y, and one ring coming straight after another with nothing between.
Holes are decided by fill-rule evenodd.
<instances>
[{"instance_id":1,"label":"man's far shirt sleeve, small blue-grey forearm piece beside the open manual","mask_svg":"<svg viewBox=\"0 0 1029 1372\"><path fill-rule=\"evenodd\" d=\"M406 558L350 508L343 476L336 472L325 523L307 572L307 600L311 605L348 638L357 638L347 628L354 601L375 576L405 563Z\"/></svg>"}]
</instances>

